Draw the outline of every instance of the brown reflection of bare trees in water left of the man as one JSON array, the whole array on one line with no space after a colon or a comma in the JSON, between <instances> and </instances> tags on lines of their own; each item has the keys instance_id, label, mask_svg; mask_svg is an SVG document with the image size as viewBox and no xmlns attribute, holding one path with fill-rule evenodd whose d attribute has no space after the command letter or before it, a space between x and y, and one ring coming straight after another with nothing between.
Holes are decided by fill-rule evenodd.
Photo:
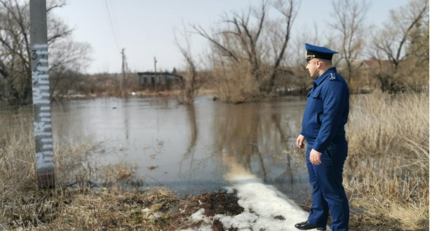
<instances>
[{"instance_id":1,"label":"brown reflection of bare trees in water left of the man","mask_svg":"<svg viewBox=\"0 0 431 231\"><path fill-rule=\"evenodd\" d=\"M215 105L214 144L218 157L238 161L266 183L291 185L291 158L288 156L286 162L286 155L282 154L290 135L283 129L283 109L278 106L276 103ZM284 168L281 174L280 167Z\"/></svg>"}]
</instances>

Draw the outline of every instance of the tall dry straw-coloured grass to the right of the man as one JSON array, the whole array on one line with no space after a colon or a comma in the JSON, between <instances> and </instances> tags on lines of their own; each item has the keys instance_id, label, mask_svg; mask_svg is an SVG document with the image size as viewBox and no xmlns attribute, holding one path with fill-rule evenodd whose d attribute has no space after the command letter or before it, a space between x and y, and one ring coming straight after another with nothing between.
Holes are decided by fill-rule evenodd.
<instances>
[{"instance_id":1,"label":"tall dry straw-coloured grass to the right of the man","mask_svg":"<svg viewBox=\"0 0 431 231\"><path fill-rule=\"evenodd\" d=\"M429 220L427 93L354 95L344 186L366 214L418 230Z\"/></svg>"}]
</instances>

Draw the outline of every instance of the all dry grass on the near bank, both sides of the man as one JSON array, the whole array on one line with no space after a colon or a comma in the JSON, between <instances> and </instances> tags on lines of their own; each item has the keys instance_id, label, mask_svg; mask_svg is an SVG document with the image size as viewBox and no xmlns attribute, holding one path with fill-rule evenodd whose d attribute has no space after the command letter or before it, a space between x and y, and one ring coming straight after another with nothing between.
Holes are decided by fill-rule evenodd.
<instances>
[{"instance_id":1,"label":"all dry grass on the near bank, both sides of the man","mask_svg":"<svg viewBox=\"0 0 431 231\"><path fill-rule=\"evenodd\" d=\"M352 96L344 173L350 230L428 230L428 105L425 93ZM162 188L138 190L134 186L145 179L135 176L135 166L92 161L94 155L114 150L91 139L58 138L57 188L40 190L28 129L31 113L0 114L0 119L13 124L0 137L0 230L178 230L200 227L200 221L190 220L200 208L207 217L242 212L235 194L177 198ZM303 157L301 151L292 153ZM94 186L93 179L100 184ZM211 229L224 230L217 220Z\"/></svg>"}]
</instances>

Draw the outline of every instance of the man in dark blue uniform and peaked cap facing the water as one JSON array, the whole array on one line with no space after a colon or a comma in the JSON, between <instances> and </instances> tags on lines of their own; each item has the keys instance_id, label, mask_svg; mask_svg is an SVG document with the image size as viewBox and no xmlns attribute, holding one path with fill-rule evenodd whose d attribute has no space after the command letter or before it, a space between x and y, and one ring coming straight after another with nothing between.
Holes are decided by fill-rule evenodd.
<instances>
[{"instance_id":1,"label":"man in dark blue uniform and peaked cap facing the water","mask_svg":"<svg viewBox=\"0 0 431 231\"><path fill-rule=\"evenodd\" d=\"M332 230L347 230L349 205L342 183L347 157L344 125L349 113L349 89L331 63L332 55L338 52L310 44L305 44L305 49L307 69L316 79L307 94L297 146L304 148L304 139L307 141L306 160L313 202L307 221L295 227L326 230L330 210Z\"/></svg>"}]
</instances>

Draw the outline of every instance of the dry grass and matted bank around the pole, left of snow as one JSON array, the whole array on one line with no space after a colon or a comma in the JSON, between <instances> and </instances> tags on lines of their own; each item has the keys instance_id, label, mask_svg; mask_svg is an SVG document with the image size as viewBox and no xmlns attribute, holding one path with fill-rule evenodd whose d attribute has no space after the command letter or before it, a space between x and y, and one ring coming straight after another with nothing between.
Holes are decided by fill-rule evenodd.
<instances>
[{"instance_id":1,"label":"dry grass and matted bank around the pole, left of snow","mask_svg":"<svg viewBox=\"0 0 431 231\"><path fill-rule=\"evenodd\" d=\"M200 226L200 221L189 220L200 208L211 214L242 211L233 194L177 198L164 188L138 189L144 179L135 176L136 166L94 162L113 150L91 139L58 138L61 142L54 143L56 188L38 189L34 138L26 129L32 125L30 112L0 114L0 119L13 125L0 137L2 230L177 230ZM158 152L162 146L160 141L153 149ZM91 182L94 179L99 186ZM220 222L213 226L222 230Z\"/></svg>"}]
</instances>

